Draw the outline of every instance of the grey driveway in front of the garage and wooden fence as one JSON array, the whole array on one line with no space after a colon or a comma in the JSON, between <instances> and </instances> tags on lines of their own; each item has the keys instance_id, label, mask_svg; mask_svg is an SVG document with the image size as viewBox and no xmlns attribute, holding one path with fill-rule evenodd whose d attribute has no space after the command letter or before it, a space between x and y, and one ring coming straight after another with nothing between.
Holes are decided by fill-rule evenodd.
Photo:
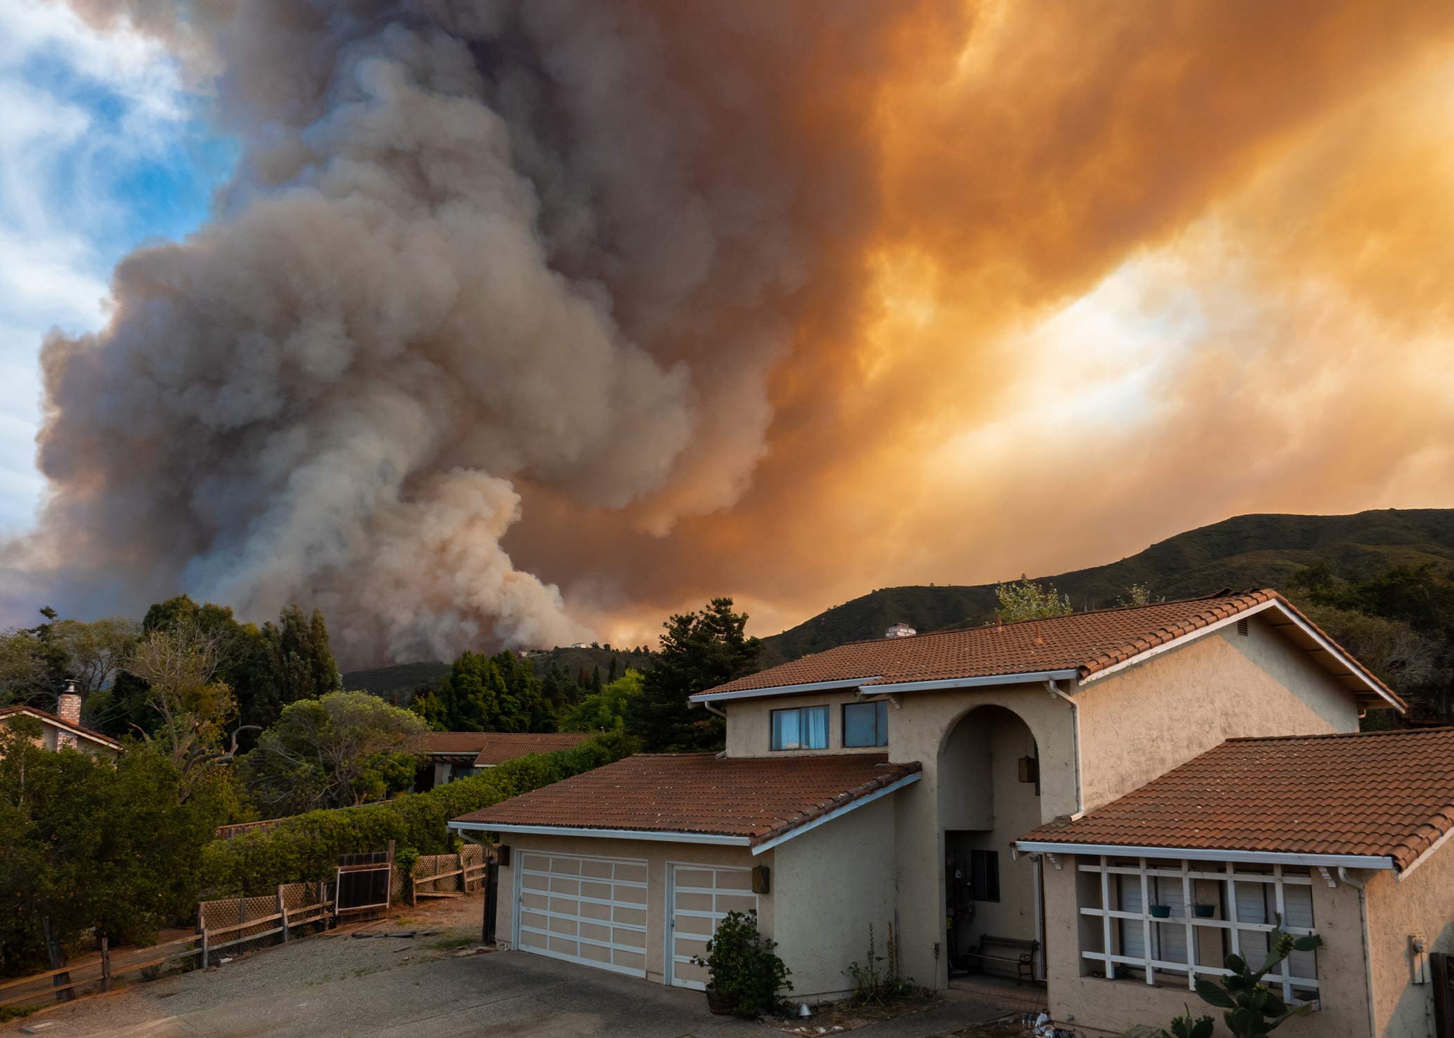
<instances>
[{"instance_id":1,"label":"grey driveway in front of the garage and wooden fence","mask_svg":"<svg viewBox=\"0 0 1454 1038\"><path fill-rule=\"evenodd\" d=\"M523 952L455 958L429 938L298 941L206 973L189 973L49 1010L36 1034L116 1038L449 1038L627 1035L717 1038L772 1031L712 1016L699 991Z\"/></svg>"}]
</instances>

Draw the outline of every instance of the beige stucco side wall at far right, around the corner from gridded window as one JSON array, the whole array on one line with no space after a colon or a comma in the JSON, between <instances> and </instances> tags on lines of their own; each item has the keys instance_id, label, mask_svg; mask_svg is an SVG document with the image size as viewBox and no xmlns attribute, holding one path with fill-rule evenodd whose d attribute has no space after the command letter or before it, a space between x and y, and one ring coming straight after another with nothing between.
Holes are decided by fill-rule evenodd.
<instances>
[{"instance_id":1,"label":"beige stucco side wall at far right, around the corner from gridded window","mask_svg":"<svg viewBox=\"0 0 1454 1038\"><path fill-rule=\"evenodd\" d=\"M1410 984L1409 935L1426 951L1454 952L1454 840L1435 849L1400 882L1375 872L1367 884L1368 952L1378 1035L1431 1034L1432 984Z\"/></svg>"}]
</instances>

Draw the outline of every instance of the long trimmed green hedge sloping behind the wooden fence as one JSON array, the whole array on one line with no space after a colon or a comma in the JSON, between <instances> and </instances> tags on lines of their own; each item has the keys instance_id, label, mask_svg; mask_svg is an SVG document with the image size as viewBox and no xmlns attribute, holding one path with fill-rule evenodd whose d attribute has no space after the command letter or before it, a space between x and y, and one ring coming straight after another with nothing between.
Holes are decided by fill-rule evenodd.
<instances>
[{"instance_id":1,"label":"long trimmed green hedge sloping behind the wooden fence","mask_svg":"<svg viewBox=\"0 0 1454 1038\"><path fill-rule=\"evenodd\" d=\"M339 855L382 850L390 840L422 855L448 853L451 833L445 823L451 818L601 768L632 749L632 740L622 736L599 736L576 749L506 760L429 792L308 811L263 832L212 840L202 849L202 897L262 896L284 882L327 880Z\"/></svg>"}]
</instances>

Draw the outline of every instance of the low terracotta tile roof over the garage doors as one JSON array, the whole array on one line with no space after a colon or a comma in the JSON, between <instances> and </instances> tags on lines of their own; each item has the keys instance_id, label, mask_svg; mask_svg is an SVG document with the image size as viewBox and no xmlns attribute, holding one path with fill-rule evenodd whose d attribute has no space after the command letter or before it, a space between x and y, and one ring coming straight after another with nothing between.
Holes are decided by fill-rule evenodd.
<instances>
[{"instance_id":1,"label":"low terracotta tile roof over the garage doors","mask_svg":"<svg viewBox=\"0 0 1454 1038\"><path fill-rule=\"evenodd\" d=\"M884 753L638 753L455 821L746 836L753 846L919 772Z\"/></svg>"}]
</instances>

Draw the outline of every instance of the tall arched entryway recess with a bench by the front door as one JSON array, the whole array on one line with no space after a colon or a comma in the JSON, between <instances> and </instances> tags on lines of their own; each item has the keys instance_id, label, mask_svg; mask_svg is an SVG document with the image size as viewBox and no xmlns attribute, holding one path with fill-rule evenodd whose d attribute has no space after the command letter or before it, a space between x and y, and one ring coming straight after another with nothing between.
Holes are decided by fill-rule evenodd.
<instances>
[{"instance_id":1,"label":"tall arched entryway recess with a bench by the front door","mask_svg":"<svg viewBox=\"0 0 1454 1038\"><path fill-rule=\"evenodd\" d=\"M1015 942L1029 951L1037 932L1034 869L1011 856L1041 821L1035 739L1012 709L977 707L945 739L938 775L949 973L1016 975Z\"/></svg>"}]
</instances>

